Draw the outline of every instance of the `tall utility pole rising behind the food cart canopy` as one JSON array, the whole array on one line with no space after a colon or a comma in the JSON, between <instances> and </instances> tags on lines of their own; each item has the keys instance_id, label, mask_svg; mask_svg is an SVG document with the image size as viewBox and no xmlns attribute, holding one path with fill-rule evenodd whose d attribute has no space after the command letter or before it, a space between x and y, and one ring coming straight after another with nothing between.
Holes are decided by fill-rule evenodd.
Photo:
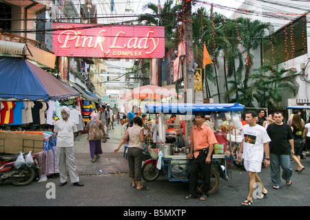
<instances>
[{"instance_id":1,"label":"tall utility pole rising behind the food cart canopy","mask_svg":"<svg viewBox=\"0 0 310 220\"><path fill-rule=\"evenodd\" d=\"M193 54L193 24L192 24L192 0L183 0L183 41L185 42L185 62L183 66L184 78L184 102L194 103L194 54ZM188 116L187 116L188 117ZM185 144L188 142L193 123L188 120L185 123Z\"/></svg>"}]
</instances>

